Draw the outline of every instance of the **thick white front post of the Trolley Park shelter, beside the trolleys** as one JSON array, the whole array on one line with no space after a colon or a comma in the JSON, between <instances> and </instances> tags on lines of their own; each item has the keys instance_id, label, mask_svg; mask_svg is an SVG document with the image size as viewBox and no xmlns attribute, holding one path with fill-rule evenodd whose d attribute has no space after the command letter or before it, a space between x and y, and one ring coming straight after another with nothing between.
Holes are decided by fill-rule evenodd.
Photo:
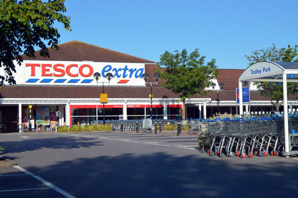
<instances>
[{"instance_id":1,"label":"thick white front post of the Trolley Park shelter, beside the trolleys","mask_svg":"<svg viewBox=\"0 0 298 198\"><path fill-rule=\"evenodd\" d=\"M287 74L283 74L283 112L285 126L285 152L289 152Z\"/></svg>"}]
</instances>

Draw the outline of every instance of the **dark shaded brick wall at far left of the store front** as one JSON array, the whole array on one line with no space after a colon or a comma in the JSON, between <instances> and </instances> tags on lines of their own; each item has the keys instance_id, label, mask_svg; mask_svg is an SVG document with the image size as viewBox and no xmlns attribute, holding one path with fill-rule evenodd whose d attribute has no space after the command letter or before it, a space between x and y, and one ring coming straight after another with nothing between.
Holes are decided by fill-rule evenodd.
<instances>
[{"instance_id":1,"label":"dark shaded brick wall at far left of the store front","mask_svg":"<svg viewBox=\"0 0 298 198\"><path fill-rule=\"evenodd\" d=\"M6 132L18 132L18 106L0 106L0 111L2 111L2 122L6 127ZM4 132L4 128L1 130Z\"/></svg>"}]
</instances>

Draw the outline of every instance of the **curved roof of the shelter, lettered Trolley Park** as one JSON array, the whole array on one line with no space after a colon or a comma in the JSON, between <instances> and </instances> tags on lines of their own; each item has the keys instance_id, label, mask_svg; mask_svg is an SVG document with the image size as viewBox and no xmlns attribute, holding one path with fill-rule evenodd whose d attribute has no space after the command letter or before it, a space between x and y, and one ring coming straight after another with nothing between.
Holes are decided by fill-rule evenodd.
<instances>
[{"instance_id":1,"label":"curved roof of the shelter, lettered Trolley Park","mask_svg":"<svg viewBox=\"0 0 298 198\"><path fill-rule=\"evenodd\" d=\"M298 63L261 61L250 65L239 77L239 81L282 82L287 74L287 82L298 81Z\"/></svg>"}]
</instances>

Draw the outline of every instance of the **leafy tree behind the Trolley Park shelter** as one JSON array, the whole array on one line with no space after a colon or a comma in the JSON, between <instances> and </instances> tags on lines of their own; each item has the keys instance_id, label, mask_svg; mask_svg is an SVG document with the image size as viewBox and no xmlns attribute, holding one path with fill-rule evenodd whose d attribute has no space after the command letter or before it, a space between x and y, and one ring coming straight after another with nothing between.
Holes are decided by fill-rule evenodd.
<instances>
[{"instance_id":1,"label":"leafy tree behind the Trolley Park shelter","mask_svg":"<svg viewBox=\"0 0 298 198\"><path fill-rule=\"evenodd\" d=\"M288 48L277 49L277 47L272 44L272 47L267 49L260 49L252 51L252 55L245 57L249 60L249 65L259 62L259 61L275 61L275 62L298 62L298 46ZM279 109L280 105L283 104L283 86L278 85L277 82L254 82L257 85L257 89L261 96L268 97L271 104L275 106L276 110ZM297 85L293 82L287 83L288 95L297 93ZM280 102L281 101L281 102Z\"/></svg>"}]
</instances>

